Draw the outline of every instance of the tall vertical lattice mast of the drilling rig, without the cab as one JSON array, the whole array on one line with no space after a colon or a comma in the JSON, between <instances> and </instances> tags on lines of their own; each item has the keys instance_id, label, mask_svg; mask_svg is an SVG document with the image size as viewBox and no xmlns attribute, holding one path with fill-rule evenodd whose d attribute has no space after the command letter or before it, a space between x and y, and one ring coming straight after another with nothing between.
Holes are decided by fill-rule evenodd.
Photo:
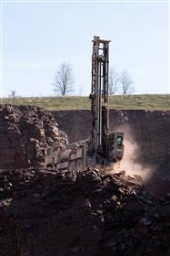
<instances>
[{"instance_id":1,"label":"tall vertical lattice mast of the drilling rig, without the cab","mask_svg":"<svg viewBox=\"0 0 170 256\"><path fill-rule=\"evenodd\" d=\"M94 37L92 54L92 91L90 94L92 110L92 153L103 157L108 152L109 112L109 40Z\"/></svg>"}]
</instances>

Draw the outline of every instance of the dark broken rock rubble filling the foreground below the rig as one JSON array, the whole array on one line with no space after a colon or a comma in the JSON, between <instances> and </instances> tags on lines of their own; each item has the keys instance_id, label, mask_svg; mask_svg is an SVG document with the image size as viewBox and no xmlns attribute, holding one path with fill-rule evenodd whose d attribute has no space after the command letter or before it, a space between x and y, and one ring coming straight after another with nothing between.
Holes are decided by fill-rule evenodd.
<instances>
[{"instance_id":1,"label":"dark broken rock rubble filling the foreground below the rig","mask_svg":"<svg viewBox=\"0 0 170 256\"><path fill-rule=\"evenodd\" d=\"M140 176L1 170L0 255L168 256L170 194Z\"/></svg>"}]
</instances>

